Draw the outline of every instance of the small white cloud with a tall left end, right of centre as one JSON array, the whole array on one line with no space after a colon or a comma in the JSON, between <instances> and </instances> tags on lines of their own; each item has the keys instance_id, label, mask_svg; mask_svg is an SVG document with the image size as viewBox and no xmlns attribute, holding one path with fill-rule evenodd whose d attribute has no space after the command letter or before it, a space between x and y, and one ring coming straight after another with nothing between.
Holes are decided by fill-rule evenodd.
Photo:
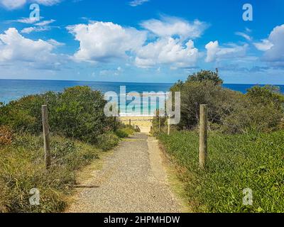
<instances>
[{"instance_id":1,"label":"small white cloud with a tall left end, right of centre","mask_svg":"<svg viewBox=\"0 0 284 227\"><path fill-rule=\"evenodd\" d=\"M205 62L214 62L215 60L222 60L225 58L244 57L248 45L230 44L228 47L220 47L218 41L211 41L205 45L205 48L207 50Z\"/></svg>"}]
</instances>

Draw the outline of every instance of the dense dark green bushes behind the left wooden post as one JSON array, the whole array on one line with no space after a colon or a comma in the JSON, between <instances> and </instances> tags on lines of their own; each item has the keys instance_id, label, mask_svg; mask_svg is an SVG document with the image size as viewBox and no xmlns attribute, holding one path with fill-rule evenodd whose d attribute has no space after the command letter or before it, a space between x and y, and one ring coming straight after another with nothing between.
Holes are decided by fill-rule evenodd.
<instances>
[{"instance_id":1,"label":"dense dark green bushes behind the left wooden post","mask_svg":"<svg viewBox=\"0 0 284 227\"><path fill-rule=\"evenodd\" d=\"M50 130L68 138L97 143L100 134L114 129L114 119L104 115L103 95L89 87L71 87L62 93L47 92L12 101L0 108L0 125L40 133L43 104L48 105Z\"/></svg>"}]
</instances>

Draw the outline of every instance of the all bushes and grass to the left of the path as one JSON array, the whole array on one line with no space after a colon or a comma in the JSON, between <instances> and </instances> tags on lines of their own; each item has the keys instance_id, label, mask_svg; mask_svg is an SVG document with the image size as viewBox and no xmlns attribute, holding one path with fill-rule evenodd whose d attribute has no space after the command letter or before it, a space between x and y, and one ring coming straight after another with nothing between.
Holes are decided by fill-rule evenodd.
<instances>
[{"instance_id":1,"label":"all bushes and grass to the left of the path","mask_svg":"<svg viewBox=\"0 0 284 227\"><path fill-rule=\"evenodd\" d=\"M41 106L48 105L52 167L45 170ZM60 212L75 172L133 133L104 115L106 101L89 87L27 96L0 107L0 213ZM30 190L40 191L31 206Z\"/></svg>"}]
</instances>

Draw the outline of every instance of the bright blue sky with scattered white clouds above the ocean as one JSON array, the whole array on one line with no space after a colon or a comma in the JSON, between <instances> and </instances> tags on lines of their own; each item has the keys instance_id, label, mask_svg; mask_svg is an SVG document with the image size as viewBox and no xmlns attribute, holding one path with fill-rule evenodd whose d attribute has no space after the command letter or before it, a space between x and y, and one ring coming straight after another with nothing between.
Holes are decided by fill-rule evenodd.
<instances>
[{"instance_id":1,"label":"bright blue sky with scattered white clouds above the ocean","mask_svg":"<svg viewBox=\"0 0 284 227\"><path fill-rule=\"evenodd\" d=\"M176 82L216 68L227 84L284 84L284 1L0 0L0 79Z\"/></svg>"}]
</instances>

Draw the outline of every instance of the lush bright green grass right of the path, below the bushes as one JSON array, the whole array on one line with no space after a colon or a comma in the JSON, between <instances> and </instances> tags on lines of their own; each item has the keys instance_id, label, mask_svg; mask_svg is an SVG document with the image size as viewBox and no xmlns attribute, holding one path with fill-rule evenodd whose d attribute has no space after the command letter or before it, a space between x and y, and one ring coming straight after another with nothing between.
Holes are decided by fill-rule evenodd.
<instances>
[{"instance_id":1,"label":"lush bright green grass right of the path, below the bushes","mask_svg":"<svg viewBox=\"0 0 284 227\"><path fill-rule=\"evenodd\" d=\"M210 133L207 170L198 167L198 135L159 136L180 166L190 206L197 212L284 212L284 131L224 135ZM243 189L253 205L243 204Z\"/></svg>"}]
</instances>

